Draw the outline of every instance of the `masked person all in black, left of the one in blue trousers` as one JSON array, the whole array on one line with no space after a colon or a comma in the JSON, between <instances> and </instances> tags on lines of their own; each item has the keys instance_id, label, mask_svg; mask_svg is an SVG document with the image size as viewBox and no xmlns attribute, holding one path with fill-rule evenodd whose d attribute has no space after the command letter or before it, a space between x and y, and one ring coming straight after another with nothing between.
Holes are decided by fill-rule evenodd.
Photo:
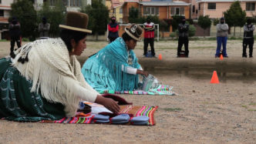
<instances>
[{"instance_id":1,"label":"masked person all in black, left of the one in blue trousers","mask_svg":"<svg viewBox=\"0 0 256 144\"><path fill-rule=\"evenodd\" d=\"M185 56L188 57L189 51L188 51L188 30L189 26L186 23L186 18L182 18L181 23L178 25L178 31L179 31L179 40L178 40L178 49L177 49L177 57L180 57L180 52L182 45L185 47Z\"/></svg>"}]
</instances>

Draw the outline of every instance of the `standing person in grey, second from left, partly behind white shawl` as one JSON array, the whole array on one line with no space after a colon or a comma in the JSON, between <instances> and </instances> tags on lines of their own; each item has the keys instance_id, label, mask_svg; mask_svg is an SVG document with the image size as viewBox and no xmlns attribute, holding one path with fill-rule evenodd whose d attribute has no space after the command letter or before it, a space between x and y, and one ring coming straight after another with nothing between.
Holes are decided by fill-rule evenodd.
<instances>
[{"instance_id":1,"label":"standing person in grey, second from left, partly behind white shawl","mask_svg":"<svg viewBox=\"0 0 256 144\"><path fill-rule=\"evenodd\" d=\"M49 38L50 24L47 22L45 17L42 17L42 22L39 24L39 37L40 39Z\"/></svg>"}]
</instances>

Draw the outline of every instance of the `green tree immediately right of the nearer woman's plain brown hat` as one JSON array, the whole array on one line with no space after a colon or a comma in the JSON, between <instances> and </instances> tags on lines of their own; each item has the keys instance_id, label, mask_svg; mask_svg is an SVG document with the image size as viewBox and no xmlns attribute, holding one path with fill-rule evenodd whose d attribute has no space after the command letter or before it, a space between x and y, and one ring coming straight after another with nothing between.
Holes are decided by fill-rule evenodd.
<instances>
[{"instance_id":1,"label":"green tree immediately right of the nearer woman's plain brown hat","mask_svg":"<svg viewBox=\"0 0 256 144\"><path fill-rule=\"evenodd\" d=\"M99 34L105 34L109 19L109 10L103 5L102 0L93 0L92 5L87 5L81 12L89 15L88 28L93 30L98 40Z\"/></svg>"}]
</instances>

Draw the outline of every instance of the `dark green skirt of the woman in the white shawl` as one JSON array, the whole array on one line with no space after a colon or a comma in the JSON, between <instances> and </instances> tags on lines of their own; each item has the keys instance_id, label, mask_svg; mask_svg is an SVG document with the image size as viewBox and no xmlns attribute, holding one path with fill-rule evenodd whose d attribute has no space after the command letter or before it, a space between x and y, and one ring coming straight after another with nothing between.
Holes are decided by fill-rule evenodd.
<instances>
[{"instance_id":1,"label":"dark green skirt of the woman in the white shawl","mask_svg":"<svg viewBox=\"0 0 256 144\"><path fill-rule=\"evenodd\" d=\"M0 59L0 118L35 122L65 117L64 105L48 102L40 92L30 92L32 82L11 64L9 58Z\"/></svg>"}]
</instances>

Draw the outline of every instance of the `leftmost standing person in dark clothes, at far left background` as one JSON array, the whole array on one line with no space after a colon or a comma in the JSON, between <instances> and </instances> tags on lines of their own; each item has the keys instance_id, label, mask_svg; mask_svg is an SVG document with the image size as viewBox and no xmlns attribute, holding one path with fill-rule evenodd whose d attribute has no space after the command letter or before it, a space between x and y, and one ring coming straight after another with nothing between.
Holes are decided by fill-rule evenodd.
<instances>
[{"instance_id":1,"label":"leftmost standing person in dark clothes, at far left background","mask_svg":"<svg viewBox=\"0 0 256 144\"><path fill-rule=\"evenodd\" d=\"M19 24L18 19L15 16L12 17L12 22L9 24L9 32L11 37L10 56L14 58L15 54L13 51L15 47L15 42L17 43L18 48L21 47L21 25Z\"/></svg>"}]
</instances>

